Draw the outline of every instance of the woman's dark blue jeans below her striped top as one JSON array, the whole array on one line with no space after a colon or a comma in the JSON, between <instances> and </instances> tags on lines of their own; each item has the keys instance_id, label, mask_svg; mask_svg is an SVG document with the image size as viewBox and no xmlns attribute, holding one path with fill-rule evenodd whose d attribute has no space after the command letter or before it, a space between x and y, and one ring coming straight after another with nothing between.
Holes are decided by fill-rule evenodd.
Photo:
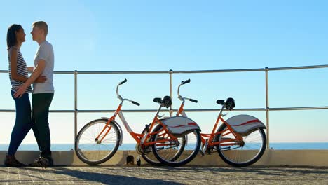
<instances>
[{"instance_id":1,"label":"woman's dark blue jeans below her striped top","mask_svg":"<svg viewBox=\"0 0 328 185\"><path fill-rule=\"evenodd\" d=\"M13 90L11 96L13 97ZM15 155L18 146L22 143L29 130L32 128L31 122L31 104L29 102L29 93L25 93L20 98L13 97L16 107L16 118L13 131L11 132L11 142L9 144L8 155Z\"/></svg>"}]
</instances>

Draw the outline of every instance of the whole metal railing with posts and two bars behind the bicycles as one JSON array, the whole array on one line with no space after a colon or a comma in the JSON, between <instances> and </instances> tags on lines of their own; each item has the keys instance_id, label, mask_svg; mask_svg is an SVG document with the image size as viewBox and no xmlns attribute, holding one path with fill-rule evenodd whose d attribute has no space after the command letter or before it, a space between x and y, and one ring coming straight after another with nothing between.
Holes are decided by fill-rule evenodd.
<instances>
[{"instance_id":1,"label":"whole metal railing with posts and two bars behind the bicycles","mask_svg":"<svg viewBox=\"0 0 328 185\"><path fill-rule=\"evenodd\" d=\"M54 113L74 113L74 140L77 135L77 114L80 113L100 113L100 112L113 112L113 110L78 110L78 74L169 74L170 76L170 97L172 98L173 93L173 74L207 74L207 73L232 73L232 72L252 72L252 71L264 71L265 72L265 80L266 80L266 107L264 108L252 108L252 109L233 109L232 111L266 111L266 137L267 137L267 149L269 149L269 138L270 138L270 119L269 112L270 111L291 111L291 110L313 110L313 109L328 109L328 106L324 107L277 107L270 108L269 107L269 90L268 90L268 72L269 71L281 71L281 70L296 70L296 69L317 69L317 68L328 68L328 65L315 65L315 66L302 66L302 67L276 67L276 68L259 68L259 69L222 69L222 70L197 70L197 71L55 71L55 74L74 74L74 110L50 110L50 112ZM6 70L0 70L1 73L8 73ZM125 112L156 112L156 109L128 109L124 110ZM172 116L173 112L176 112L177 109L172 109L172 105L170 110L170 116ZM219 109L185 109L188 112L211 112L211 111L219 111ZM0 109L0 112L15 112L13 109Z\"/></svg>"}]
</instances>

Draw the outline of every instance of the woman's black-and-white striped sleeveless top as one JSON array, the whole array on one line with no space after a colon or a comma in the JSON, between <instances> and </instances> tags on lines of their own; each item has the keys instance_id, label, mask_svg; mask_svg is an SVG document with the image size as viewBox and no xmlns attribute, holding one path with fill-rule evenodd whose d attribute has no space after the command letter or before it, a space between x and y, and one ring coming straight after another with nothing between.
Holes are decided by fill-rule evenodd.
<instances>
[{"instance_id":1,"label":"woman's black-and-white striped sleeveless top","mask_svg":"<svg viewBox=\"0 0 328 185\"><path fill-rule=\"evenodd\" d=\"M20 87L20 85L23 85L24 82L22 81L15 81L13 78L11 78L11 52L13 51L13 48L16 48L15 46L12 46L8 49L8 61L9 61L9 79L11 80L11 90L16 92L16 88ZM29 78L28 72L27 72L27 65L22 57L22 53L20 53L20 49L17 49L17 74L19 76L24 76L26 78ZM32 93L32 88L29 85L29 87L26 89L25 93Z\"/></svg>"}]
</instances>

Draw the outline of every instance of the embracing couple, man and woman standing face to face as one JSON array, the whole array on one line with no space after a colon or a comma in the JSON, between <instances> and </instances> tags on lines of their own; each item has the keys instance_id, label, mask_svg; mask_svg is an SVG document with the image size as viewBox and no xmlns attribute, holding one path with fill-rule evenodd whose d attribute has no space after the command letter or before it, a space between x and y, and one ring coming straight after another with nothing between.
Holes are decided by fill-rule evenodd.
<instances>
[{"instance_id":1,"label":"embracing couple, man and woman standing face to face","mask_svg":"<svg viewBox=\"0 0 328 185\"><path fill-rule=\"evenodd\" d=\"M20 52L20 47L25 42L24 29L21 25L11 25L7 32L9 78L16 110L15 125L5 159L5 165L11 167L25 166L15 158L15 153L31 128L39 146L40 157L29 163L29 166L53 166L48 123L49 107L54 95L53 46L46 41L46 22L34 22L31 34L33 41L39 43L39 48L34 57L34 67L27 67ZM28 71L32 72L31 76L28 76ZM29 93L32 93L32 109Z\"/></svg>"}]
</instances>

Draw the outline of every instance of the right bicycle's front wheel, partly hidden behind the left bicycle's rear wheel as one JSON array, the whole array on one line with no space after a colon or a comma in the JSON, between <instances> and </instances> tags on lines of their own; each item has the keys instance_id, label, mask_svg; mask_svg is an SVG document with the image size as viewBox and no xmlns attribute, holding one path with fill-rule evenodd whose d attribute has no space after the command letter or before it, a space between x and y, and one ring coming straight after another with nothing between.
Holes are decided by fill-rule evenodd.
<instances>
[{"instance_id":1,"label":"right bicycle's front wheel, partly hidden behind the left bicycle's rear wheel","mask_svg":"<svg viewBox=\"0 0 328 185\"><path fill-rule=\"evenodd\" d=\"M158 128L158 127L160 127L160 128ZM154 130L160 130L161 128L162 128L162 125L157 125ZM145 132L146 132L146 129L144 129L144 131L142 131L143 134ZM168 136L168 135L166 135L166 136ZM163 137L157 138L157 139L163 139ZM180 138L178 138L178 140L179 140L180 145L177 147L175 155L173 155L170 160L176 160L177 158L179 158L179 156L184 151L184 144L186 144L186 137L180 137ZM149 141L151 141L151 138L149 139ZM155 166L163 165L163 163L160 163L158 161L158 159L156 158L156 156L153 155L153 147L152 146L149 146L149 148L144 151L144 154L142 154L142 158L144 158L144 160L146 160L146 162L151 165L155 165Z\"/></svg>"}]
</instances>

